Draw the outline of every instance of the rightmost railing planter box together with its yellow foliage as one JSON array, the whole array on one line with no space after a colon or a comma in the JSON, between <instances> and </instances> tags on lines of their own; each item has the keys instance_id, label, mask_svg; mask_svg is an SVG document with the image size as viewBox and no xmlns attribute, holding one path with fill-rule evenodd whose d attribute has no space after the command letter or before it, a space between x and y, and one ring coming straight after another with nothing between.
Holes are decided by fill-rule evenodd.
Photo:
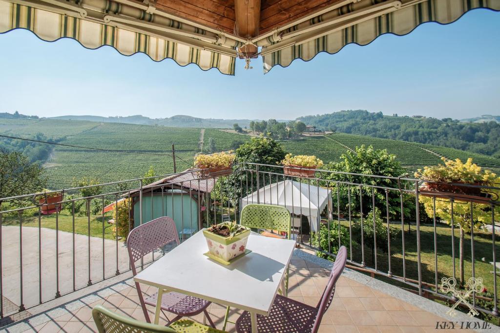
<instances>
[{"instance_id":1,"label":"rightmost railing planter box together with its yellow foliage","mask_svg":"<svg viewBox=\"0 0 500 333\"><path fill-rule=\"evenodd\" d=\"M475 186L494 186L496 175L489 170L482 170L468 158L463 163L460 159L441 158L444 165L426 166L415 172L415 177L424 180L420 186L423 195L454 196L471 200L490 200L491 193Z\"/></svg>"}]
</instances>

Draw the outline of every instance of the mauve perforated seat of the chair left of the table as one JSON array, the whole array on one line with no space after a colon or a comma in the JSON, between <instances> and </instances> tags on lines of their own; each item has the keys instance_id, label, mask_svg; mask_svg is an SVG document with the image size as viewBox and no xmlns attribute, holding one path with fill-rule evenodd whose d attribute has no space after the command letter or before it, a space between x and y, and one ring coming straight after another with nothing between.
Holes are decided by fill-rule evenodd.
<instances>
[{"instance_id":1,"label":"mauve perforated seat of the chair left of the table","mask_svg":"<svg viewBox=\"0 0 500 333\"><path fill-rule=\"evenodd\" d=\"M156 306L156 297L158 293L144 297L144 303ZM210 302L197 297L187 296L179 293L166 293L161 298L161 309L182 317L195 316L205 310Z\"/></svg>"}]
</instances>

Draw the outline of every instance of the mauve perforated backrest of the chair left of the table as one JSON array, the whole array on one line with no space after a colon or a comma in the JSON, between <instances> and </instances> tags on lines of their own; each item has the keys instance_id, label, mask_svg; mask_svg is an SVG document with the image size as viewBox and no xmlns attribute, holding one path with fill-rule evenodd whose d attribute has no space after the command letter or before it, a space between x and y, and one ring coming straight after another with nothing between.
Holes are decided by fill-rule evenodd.
<instances>
[{"instance_id":1,"label":"mauve perforated backrest of the chair left of the table","mask_svg":"<svg viewBox=\"0 0 500 333\"><path fill-rule=\"evenodd\" d=\"M128 234L126 246L133 275L136 274L137 260L173 241L178 245L179 236L175 222L168 216L159 217L132 229Z\"/></svg>"}]
</instances>

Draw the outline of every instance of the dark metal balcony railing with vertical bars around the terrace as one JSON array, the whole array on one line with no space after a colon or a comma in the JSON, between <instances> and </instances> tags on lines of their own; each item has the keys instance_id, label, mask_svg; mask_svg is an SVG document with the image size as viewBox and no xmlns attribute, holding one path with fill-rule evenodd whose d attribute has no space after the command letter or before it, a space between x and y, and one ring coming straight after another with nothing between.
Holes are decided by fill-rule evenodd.
<instances>
[{"instance_id":1,"label":"dark metal balcony railing with vertical bars around the terrace","mask_svg":"<svg viewBox=\"0 0 500 333\"><path fill-rule=\"evenodd\" d=\"M464 280L476 278L478 265L484 273L491 260L491 273L487 272L490 275L481 278L492 292L489 296L473 292L471 300L477 311L498 317L494 265L498 198L443 194L428 191L425 185L428 182L407 176L316 170L314 176L303 177L284 174L280 166L243 163L223 175L202 176L199 170L191 169L64 189L65 198L55 203L56 209L49 215L43 214L47 204L40 204L39 198L61 190L2 198L0 316L10 315L5 310L7 302L23 311L128 272L123 241L136 225L170 216L183 241L209 224L238 221L246 204L266 203L288 208L295 222L293 236L300 246L331 259L336 248L345 245L352 268L421 296L453 301L452 296L440 291L440 278L457 278L457 259L464 258L462 265L458 263ZM469 187L500 191L497 187ZM85 191L89 189L99 191L81 195L91 193ZM320 198L324 190L326 204ZM422 210L422 196L427 198L427 213ZM128 203L123 206L124 213L119 209L123 202ZM105 205L113 203L114 207L105 213ZM449 206L446 209L451 216L450 221L443 221L447 224L440 223L436 215L436 207L442 208L443 203ZM457 237L456 229L460 228L454 219L462 219L463 224L467 217L464 205L472 213L477 205L483 211L489 210L491 230L470 228L465 235L462 228L462 247L457 251L455 243L460 235ZM314 209L317 215L312 214ZM433 214L428 214L429 209ZM113 211L117 212L114 218ZM473 214L468 218L472 225L476 223ZM109 224L108 219L114 224ZM158 255L152 253L149 261L138 265L143 267ZM484 261L481 257L485 257Z\"/></svg>"}]
</instances>

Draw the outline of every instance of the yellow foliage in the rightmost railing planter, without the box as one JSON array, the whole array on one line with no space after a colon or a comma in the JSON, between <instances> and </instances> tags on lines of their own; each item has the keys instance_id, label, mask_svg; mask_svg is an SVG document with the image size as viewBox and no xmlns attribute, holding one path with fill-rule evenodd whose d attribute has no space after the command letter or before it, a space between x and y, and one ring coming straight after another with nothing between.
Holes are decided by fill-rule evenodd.
<instances>
[{"instance_id":1,"label":"yellow foliage in the rightmost railing planter, without the box","mask_svg":"<svg viewBox=\"0 0 500 333\"><path fill-rule=\"evenodd\" d=\"M460 159L448 160L441 158L444 165L426 166L415 172L415 177L423 180L442 183L465 183L493 186L498 179L489 170L482 170L468 158L463 163Z\"/></svg>"}]
</instances>

